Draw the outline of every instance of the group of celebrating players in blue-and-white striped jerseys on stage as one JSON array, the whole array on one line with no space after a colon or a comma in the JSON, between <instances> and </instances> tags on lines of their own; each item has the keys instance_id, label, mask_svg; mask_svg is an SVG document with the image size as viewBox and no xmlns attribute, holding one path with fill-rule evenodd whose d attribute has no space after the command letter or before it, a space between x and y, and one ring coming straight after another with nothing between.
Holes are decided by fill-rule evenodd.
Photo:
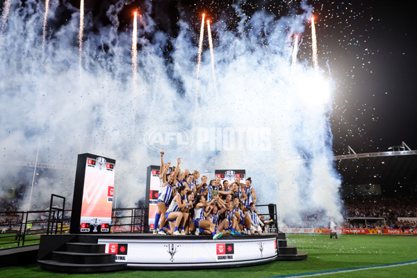
<instances>
[{"instance_id":1,"label":"group of celebrating players in blue-and-white striped jerseys on stage","mask_svg":"<svg viewBox=\"0 0 417 278\"><path fill-rule=\"evenodd\" d=\"M263 222L256 213L256 193L249 177L245 183L235 177L233 183L221 182L219 177L207 183L199 172L181 171L181 159L177 166L163 162L159 179L158 210L155 216L154 234L173 236L211 234L213 240L223 234L240 235L243 231L262 234Z\"/></svg>"}]
</instances>

